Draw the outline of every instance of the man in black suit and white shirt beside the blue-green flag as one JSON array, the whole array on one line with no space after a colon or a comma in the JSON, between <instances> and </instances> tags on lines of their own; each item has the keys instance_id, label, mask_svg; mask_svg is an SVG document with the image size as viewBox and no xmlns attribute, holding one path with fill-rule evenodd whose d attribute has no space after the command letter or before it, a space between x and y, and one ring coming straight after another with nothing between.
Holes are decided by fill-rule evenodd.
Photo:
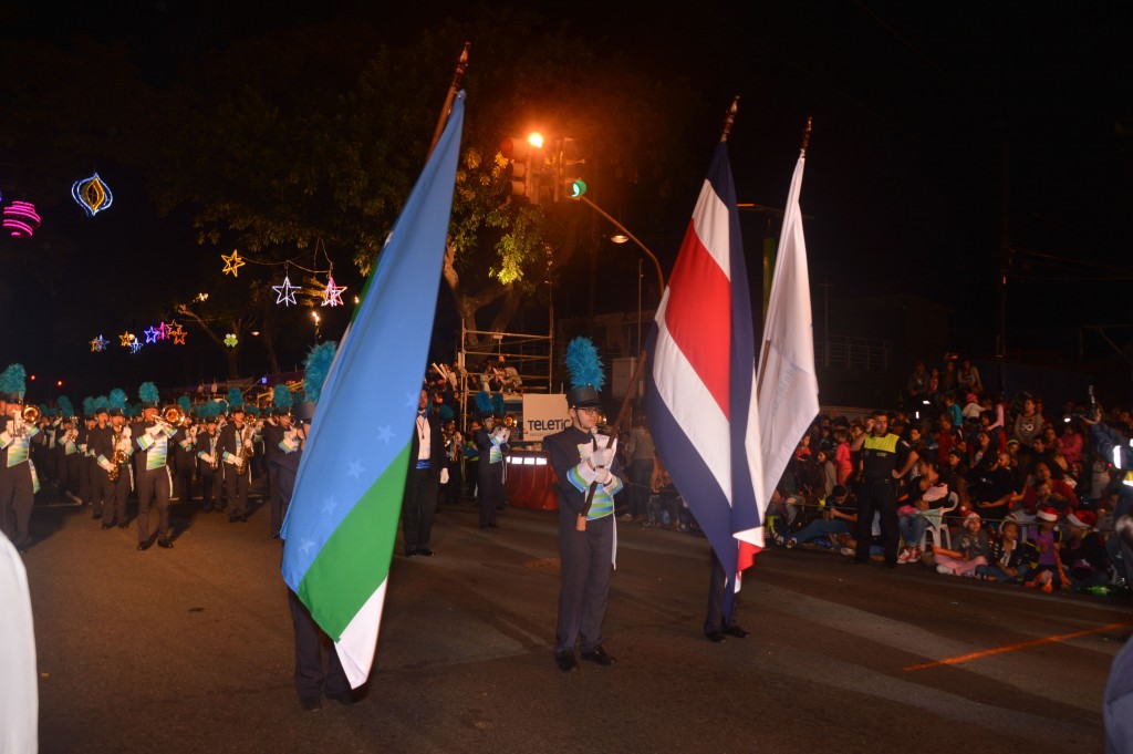
<instances>
[{"instance_id":1,"label":"man in black suit and white shirt beside the blue-green flag","mask_svg":"<svg viewBox=\"0 0 1133 754\"><path fill-rule=\"evenodd\" d=\"M409 471L401 498L401 534L407 558L433 554L429 539L433 535L433 516L440 485L449 481L444 465L444 439L441 418L428 410L428 391L421 390L414 420L412 442L409 447Z\"/></svg>"}]
</instances>

